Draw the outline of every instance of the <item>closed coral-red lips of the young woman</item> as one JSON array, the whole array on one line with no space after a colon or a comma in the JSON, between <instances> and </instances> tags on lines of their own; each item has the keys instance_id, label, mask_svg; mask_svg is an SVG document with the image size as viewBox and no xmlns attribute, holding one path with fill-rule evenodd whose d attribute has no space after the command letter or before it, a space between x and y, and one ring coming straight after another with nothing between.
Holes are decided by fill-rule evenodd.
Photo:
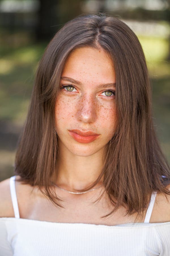
<instances>
[{"instance_id":1,"label":"closed coral-red lips of the young woman","mask_svg":"<svg viewBox=\"0 0 170 256\"><path fill-rule=\"evenodd\" d=\"M87 131L87 132L83 131L84 135L80 135L80 134L76 133L75 131L76 130L71 130L71 131L69 131L69 133L73 137L73 139L75 139L75 141L77 141L79 143L90 143L100 136L99 134L94 134L90 131ZM80 130L77 130L77 131L80 133ZM81 133L82 133L82 131L81 131ZM91 135L91 134L93 134L93 135Z\"/></svg>"}]
</instances>

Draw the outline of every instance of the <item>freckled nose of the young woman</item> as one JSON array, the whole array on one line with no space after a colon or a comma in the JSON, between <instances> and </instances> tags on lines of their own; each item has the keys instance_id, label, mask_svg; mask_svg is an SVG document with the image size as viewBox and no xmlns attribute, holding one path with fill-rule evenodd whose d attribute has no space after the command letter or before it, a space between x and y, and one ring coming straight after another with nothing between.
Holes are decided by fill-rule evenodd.
<instances>
[{"instance_id":1,"label":"freckled nose of the young woman","mask_svg":"<svg viewBox=\"0 0 170 256\"><path fill-rule=\"evenodd\" d=\"M97 118L97 102L94 96L84 94L77 106L77 119L84 123L94 123Z\"/></svg>"}]
</instances>

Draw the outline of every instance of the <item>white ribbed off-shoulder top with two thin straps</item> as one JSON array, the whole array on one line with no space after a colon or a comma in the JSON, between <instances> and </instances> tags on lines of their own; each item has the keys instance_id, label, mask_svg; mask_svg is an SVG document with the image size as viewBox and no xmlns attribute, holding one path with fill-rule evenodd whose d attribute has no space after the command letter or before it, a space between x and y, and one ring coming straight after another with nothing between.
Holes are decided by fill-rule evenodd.
<instances>
[{"instance_id":1,"label":"white ribbed off-shoulder top with two thin straps","mask_svg":"<svg viewBox=\"0 0 170 256\"><path fill-rule=\"evenodd\" d=\"M170 256L170 222L149 223L156 192L143 223L107 226L20 218L15 176L10 191L15 217L0 218L0 256Z\"/></svg>"}]
</instances>

